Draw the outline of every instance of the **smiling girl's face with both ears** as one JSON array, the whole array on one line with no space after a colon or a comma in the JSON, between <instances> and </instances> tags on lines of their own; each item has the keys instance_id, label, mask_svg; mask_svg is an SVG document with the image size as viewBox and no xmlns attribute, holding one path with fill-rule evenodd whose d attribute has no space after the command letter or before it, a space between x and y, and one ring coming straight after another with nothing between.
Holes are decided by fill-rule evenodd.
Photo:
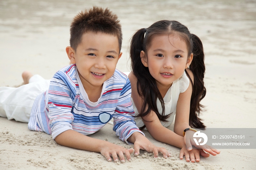
<instances>
[{"instance_id":1,"label":"smiling girl's face with both ears","mask_svg":"<svg viewBox=\"0 0 256 170\"><path fill-rule=\"evenodd\" d=\"M141 51L142 63L148 67L159 89L170 88L172 83L182 76L193 59L193 54L188 58L187 45L176 34L155 36L146 55Z\"/></svg>"}]
</instances>

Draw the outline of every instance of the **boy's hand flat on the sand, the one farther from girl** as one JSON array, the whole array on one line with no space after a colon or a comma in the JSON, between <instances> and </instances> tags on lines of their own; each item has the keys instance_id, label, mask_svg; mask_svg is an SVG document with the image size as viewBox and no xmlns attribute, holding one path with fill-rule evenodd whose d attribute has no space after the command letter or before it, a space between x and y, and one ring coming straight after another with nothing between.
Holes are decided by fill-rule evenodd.
<instances>
[{"instance_id":1,"label":"boy's hand flat on the sand, the one farther from girl","mask_svg":"<svg viewBox=\"0 0 256 170\"><path fill-rule=\"evenodd\" d=\"M126 149L122 146L118 146L113 143L108 143L107 145L101 147L101 154L107 159L107 161L111 162L114 159L114 162L118 161L118 157L121 163L125 162L124 155L127 158L127 161L131 161L131 153L133 152L133 148Z\"/></svg>"}]
</instances>

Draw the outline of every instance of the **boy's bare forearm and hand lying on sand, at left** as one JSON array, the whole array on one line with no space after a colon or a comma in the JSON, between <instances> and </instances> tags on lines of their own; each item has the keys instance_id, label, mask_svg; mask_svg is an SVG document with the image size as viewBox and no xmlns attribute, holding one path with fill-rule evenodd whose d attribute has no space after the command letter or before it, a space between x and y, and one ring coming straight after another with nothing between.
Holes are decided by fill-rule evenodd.
<instances>
[{"instance_id":1,"label":"boy's bare forearm and hand lying on sand, at left","mask_svg":"<svg viewBox=\"0 0 256 170\"><path fill-rule=\"evenodd\" d=\"M55 138L55 141L63 146L76 148L80 150L99 152L101 153L108 161L112 161L111 157L114 159L114 162L120 161L125 162L124 155L127 160L131 160L130 154L133 152L133 149L126 149L124 147L118 146L116 144L107 142L105 140L94 139L89 136L85 136L76 132L74 130L67 130Z\"/></svg>"}]
</instances>

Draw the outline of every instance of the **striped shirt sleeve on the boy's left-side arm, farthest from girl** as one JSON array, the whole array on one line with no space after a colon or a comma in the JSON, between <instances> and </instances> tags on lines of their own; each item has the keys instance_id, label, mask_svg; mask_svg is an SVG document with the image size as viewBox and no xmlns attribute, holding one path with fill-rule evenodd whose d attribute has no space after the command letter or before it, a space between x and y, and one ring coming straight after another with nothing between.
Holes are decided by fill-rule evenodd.
<instances>
[{"instance_id":1,"label":"striped shirt sleeve on the boy's left-side arm, farthest from girl","mask_svg":"<svg viewBox=\"0 0 256 170\"><path fill-rule=\"evenodd\" d=\"M75 84L64 72L54 74L48 91L48 117L52 138L72 130L74 115L71 113L75 97Z\"/></svg>"}]
</instances>

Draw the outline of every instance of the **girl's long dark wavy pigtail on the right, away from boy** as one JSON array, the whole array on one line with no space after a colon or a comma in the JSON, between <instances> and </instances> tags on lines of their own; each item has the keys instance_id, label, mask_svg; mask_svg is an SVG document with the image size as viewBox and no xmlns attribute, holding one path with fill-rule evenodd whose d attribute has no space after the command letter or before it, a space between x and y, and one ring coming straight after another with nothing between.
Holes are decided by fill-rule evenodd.
<instances>
[{"instance_id":1,"label":"girl's long dark wavy pigtail on the right, away from boy","mask_svg":"<svg viewBox=\"0 0 256 170\"><path fill-rule=\"evenodd\" d=\"M200 101L206 95L206 88L204 87L205 65L203 44L199 37L194 34L191 34L191 40L191 44L193 47L193 60L191 62L191 65L189 66L189 69L193 73L194 83L192 83L192 80L186 71L186 74L193 85L193 91L190 101L189 125L195 128L205 128L206 126L202 123L202 119L199 118L199 113L200 111L202 111L203 108L203 105L200 104Z\"/></svg>"}]
</instances>

